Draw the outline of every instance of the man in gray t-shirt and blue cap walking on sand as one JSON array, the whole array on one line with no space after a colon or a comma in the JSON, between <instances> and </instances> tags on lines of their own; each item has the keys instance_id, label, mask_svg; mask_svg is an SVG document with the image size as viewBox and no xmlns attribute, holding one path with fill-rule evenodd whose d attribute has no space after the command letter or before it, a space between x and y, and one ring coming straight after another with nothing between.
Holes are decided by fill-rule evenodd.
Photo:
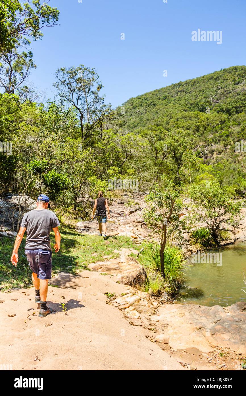
<instances>
[{"instance_id":1,"label":"man in gray t-shirt and blue cap walking on sand","mask_svg":"<svg viewBox=\"0 0 246 396\"><path fill-rule=\"evenodd\" d=\"M60 225L54 212L49 211L49 197L47 195L39 195L37 200L37 208L31 210L23 216L21 227L15 240L15 246L11 256L11 263L17 266L18 249L26 231L25 254L32 270L32 282L35 287L35 303L40 307L39 317L44 318L53 310L48 308L47 292L48 280L51 278L51 244L49 235L51 229L55 234L56 243L54 245L55 252L60 249Z\"/></svg>"}]
</instances>

